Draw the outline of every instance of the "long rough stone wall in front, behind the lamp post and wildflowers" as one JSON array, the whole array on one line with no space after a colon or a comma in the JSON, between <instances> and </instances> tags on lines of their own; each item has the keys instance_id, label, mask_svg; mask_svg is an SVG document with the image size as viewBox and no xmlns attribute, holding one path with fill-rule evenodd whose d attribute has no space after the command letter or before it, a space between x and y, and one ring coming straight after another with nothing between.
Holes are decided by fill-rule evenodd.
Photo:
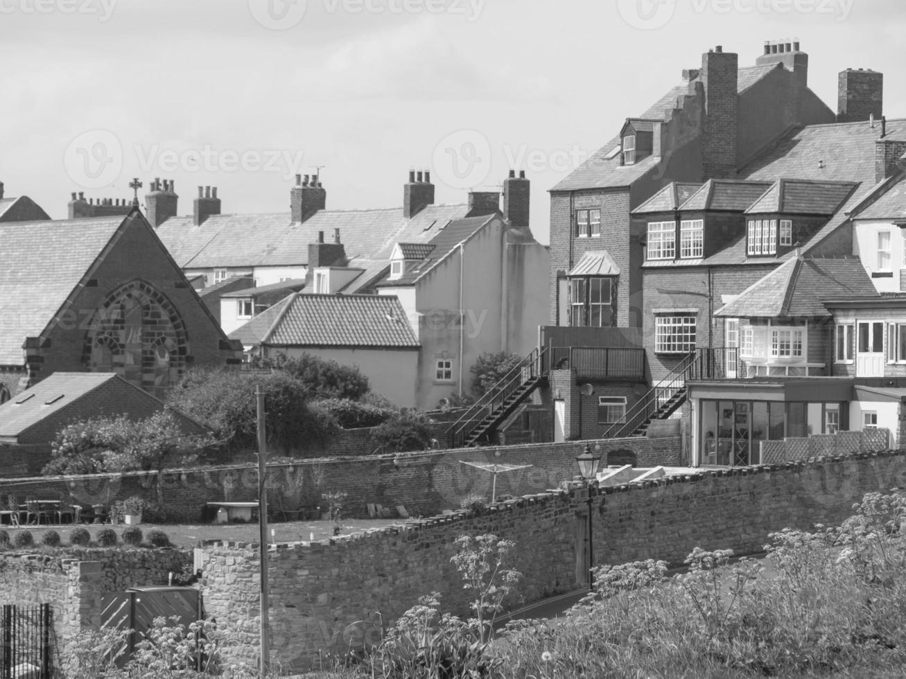
<instances>
[{"instance_id":1,"label":"long rough stone wall in front, behind the lamp post and wildflowers","mask_svg":"<svg viewBox=\"0 0 906 679\"><path fill-rule=\"evenodd\" d=\"M906 454L852 454L705 472L592 489L594 563L664 559L680 564L696 546L761 551L787 526L833 524L869 491L906 484ZM329 543L278 545L270 554L272 654L284 666L316 665L319 654L378 641L419 596L437 590L466 612L450 563L462 534L491 532L516 541L520 587L532 602L577 587L581 487L503 502L481 516L466 512ZM227 663L255 663L258 555L255 545L205 548L203 589L209 615L236 630Z\"/></svg>"}]
</instances>

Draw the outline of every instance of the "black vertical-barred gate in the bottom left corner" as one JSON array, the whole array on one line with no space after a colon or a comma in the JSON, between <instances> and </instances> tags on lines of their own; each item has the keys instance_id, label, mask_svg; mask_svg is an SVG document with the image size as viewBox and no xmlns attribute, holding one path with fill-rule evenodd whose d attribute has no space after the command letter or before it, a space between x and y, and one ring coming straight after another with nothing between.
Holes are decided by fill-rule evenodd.
<instances>
[{"instance_id":1,"label":"black vertical-barred gate in the bottom left corner","mask_svg":"<svg viewBox=\"0 0 906 679\"><path fill-rule=\"evenodd\" d=\"M5 605L0 614L0 679L50 679L52 629L50 604Z\"/></svg>"}]
</instances>

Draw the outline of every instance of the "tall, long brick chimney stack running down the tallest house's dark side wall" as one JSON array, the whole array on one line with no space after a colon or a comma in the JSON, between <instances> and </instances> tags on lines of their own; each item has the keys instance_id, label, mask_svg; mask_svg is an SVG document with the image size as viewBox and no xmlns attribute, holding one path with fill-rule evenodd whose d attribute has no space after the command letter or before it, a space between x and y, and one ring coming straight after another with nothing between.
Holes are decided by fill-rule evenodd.
<instances>
[{"instance_id":1,"label":"tall, long brick chimney stack running down the tallest house's dark side wall","mask_svg":"<svg viewBox=\"0 0 906 679\"><path fill-rule=\"evenodd\" d=\"M701 56L701 82L705 92L701 172L706 180L736 177L738 70L738 55L725 53L720 45Z\"/></svg>"}]
</instances>

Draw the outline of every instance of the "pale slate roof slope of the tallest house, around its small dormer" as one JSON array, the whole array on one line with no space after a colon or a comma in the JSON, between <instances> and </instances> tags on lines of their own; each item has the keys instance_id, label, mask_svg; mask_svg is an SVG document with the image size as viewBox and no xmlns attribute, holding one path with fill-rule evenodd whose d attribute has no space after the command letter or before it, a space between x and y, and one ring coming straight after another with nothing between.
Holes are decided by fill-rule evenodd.
<instances>
[{"instance_id":1,"label":"pale slate roof slope of the tallest house, around its small dormer","mask_svg":"<svg viewBox=\"0 0 906 679\"><path fill-rule=\"evenodd\" d=\"M768 66L747 66L737 72L737 91L743 92L764 78L768 72L779 67L780 64ZM698 80L698 79L696 79ZM646 110L641 116L632 120L666 120L670 112L679 105L679 99L687 94L696 81L689 81L672 88L670 91ZM642 158L634 165L620 165L620 154L613 158L606 158L613 148L620 146L620 136L617 135L601 148L595 151L582 165L576 167L568 177L558 182L551 191L575 191L583 188L606 188L617 186L630 186L639 177L643 177L651 167L658 163L657 157Z\"/></svg>"}]
</instances>

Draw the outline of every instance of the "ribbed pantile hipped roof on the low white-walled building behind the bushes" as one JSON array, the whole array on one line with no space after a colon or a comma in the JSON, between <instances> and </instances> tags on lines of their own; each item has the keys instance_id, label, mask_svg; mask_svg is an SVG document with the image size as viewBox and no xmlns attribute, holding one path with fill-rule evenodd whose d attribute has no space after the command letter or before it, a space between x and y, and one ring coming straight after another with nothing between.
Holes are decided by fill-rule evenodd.
<instances>
[{"instance_id":1,"label":"ribbed pantile hipped roof on the low white-walled building behind the bushes","mask_svg":"<svg viewBox=\"0 0 906 679\"><path fill-rule=\"evenodd\" d=\"M234 331L230 339L278 347L419 347L406 312L391 295L295 292Z\"/></svg>"}]
</instances>

